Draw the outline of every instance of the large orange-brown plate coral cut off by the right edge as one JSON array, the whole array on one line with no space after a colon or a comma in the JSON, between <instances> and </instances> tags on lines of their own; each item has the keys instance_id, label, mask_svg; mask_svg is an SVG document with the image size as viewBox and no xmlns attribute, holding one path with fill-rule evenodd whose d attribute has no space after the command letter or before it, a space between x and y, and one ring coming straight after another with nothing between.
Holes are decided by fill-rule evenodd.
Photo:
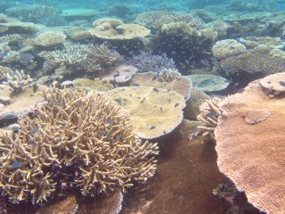
<instances>
[{"instance_id":1,"label":"large orange-brown plate coral cut off by the right edge","mask_svg":"<svg viewBox=\"0 0 285 214\"><path fill-rule=\"evenodd\" d=\"M219 169L248 202L273 214L285 212L284 104L284 95L270 99L252 82L224 99L215 130Z\"/></svg>"}]
</instances>

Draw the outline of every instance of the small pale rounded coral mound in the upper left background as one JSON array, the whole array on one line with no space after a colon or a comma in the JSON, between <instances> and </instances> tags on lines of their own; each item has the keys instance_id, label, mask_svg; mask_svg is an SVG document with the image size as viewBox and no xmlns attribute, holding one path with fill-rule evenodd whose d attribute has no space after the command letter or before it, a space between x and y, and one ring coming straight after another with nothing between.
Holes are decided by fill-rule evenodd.
<instances>
[{"instance_id":1,"label":"small pale rounded coral mound in the upper left background","mask_svg":"<svg viewBox=\"0 0 285 214\"><path fill-rule=\"evenodd\" d=\"M61 45L66 35L61 31L46 31L35 38L35 44L40 46Z\"/></svg>"}]
</instances>

